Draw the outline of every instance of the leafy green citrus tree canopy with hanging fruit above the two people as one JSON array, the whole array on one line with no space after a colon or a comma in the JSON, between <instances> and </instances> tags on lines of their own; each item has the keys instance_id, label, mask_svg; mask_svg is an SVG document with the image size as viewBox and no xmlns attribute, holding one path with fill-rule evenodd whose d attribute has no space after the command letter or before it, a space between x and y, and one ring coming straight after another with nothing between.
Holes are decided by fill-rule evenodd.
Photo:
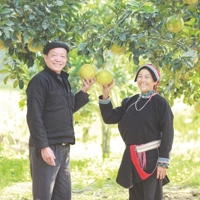
<instances>
[{"instance_id":1,"label":"leafy green citrus tree canopy with hanging fruit above the two people","mask_svg":"<svg viewBox=\"0 0 200 200\"><path fill-rule=\"evenodd\" d=\"M66 70L75 90L78 69L93 64L113 72L119 103L136 90L138 67L151 62L171 105L180 97L189 105L200 101L198 0L1 0L0 19L4 83L13 79L14 87L26 88L44 66L42 47L58 39L70 46Z\"/></svg>"}]
</instances>

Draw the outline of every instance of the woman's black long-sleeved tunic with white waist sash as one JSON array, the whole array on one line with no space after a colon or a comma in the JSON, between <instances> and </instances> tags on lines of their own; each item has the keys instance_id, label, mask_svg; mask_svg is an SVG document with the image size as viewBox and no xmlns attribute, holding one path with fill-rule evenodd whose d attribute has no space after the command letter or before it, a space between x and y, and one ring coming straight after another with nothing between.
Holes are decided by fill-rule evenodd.
<instances>
[{"instance_id":1,"label":"woman's black long-sleeved tunic with white waist sash","mask_svg":"<svg viewBox=\"0 0 200 200\"><path fill-rule=\"evenodd\" d=\"M174 138L174 116L168 102L162 96L155 95L149 102L148 99L142 98L136 105L133 104L137 99L138 95L125 98L116 108L113 108L111 101L99 104L104 122L118 124L119 132L126 144L117 175L117 182L125 188L130 188L133 183L141 181L130 159L130 145L161 139L158 150L152 149L146 152L145 171L151 173L157 165L158 157L170 159ZM141 110L137 111L136 107L137 110Z\"/></svg>"}]
</instances>

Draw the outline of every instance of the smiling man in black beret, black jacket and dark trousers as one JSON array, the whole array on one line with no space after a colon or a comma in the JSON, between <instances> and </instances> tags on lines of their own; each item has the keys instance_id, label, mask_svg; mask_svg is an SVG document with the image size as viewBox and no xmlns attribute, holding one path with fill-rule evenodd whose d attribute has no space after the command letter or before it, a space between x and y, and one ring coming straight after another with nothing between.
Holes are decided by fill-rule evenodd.
<instances>
[{"instance_id":1,"label":"smiling man in black beret, black jacket and dark trousers","mask_svg":"<svg viewBox=\"0 0 200 200\"><path fill-rule=\"evenodd\" d=\"M73 113L88 103L95 80L83 80L74 94L63 71L69 47L59 41L44 49L45 68L27 87L27 124L34 200L71 200L70 145L75 143Z\"/></svg>"}]
</instances>

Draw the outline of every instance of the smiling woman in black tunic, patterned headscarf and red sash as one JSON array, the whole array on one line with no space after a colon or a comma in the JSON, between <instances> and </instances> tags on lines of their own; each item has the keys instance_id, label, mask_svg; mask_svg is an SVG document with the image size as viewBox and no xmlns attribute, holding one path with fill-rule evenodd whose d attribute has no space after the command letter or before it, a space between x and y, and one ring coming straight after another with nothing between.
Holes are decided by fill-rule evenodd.
<instances>
[{"instance_id":1,"label":"smiling woman in black tunic, patterned headscarf and red sash","mask_svg":"<svg viewBox=\"0 0 200 200\"><path fill-rule=\"evenodd\" d=\"M162 186L170 161L174 129L173 113L158 93L161 76L152 64L140 67L135 82L140 94L125 98L113 108L109 97L112 83L103 86L99 97L106 124L118 124L126 145L117 183L129 189L129 200L161 200Z\"/></svg>"}]
</instances>

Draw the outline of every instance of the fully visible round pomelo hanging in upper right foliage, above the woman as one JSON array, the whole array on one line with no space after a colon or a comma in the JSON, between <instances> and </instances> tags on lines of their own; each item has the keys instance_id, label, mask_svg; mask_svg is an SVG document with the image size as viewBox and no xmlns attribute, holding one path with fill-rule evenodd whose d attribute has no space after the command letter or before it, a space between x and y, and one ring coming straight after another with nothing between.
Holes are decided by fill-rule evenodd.
<instances>
[{"instance_id":1,"label":"fully visible round pomelo hanging in upper right foliage, above the woman","mask_svg":"<svg viewBox=\"0 0 200 200\"><path fill-rule=\"evenodd\" d=\"M184 21L182 17L178 15L172 15L171 17L167 19L166 25L167 25L168 31L173 32L173 33L178 33L179 31L183 29Z\"/></svg>"}]
</instances>

